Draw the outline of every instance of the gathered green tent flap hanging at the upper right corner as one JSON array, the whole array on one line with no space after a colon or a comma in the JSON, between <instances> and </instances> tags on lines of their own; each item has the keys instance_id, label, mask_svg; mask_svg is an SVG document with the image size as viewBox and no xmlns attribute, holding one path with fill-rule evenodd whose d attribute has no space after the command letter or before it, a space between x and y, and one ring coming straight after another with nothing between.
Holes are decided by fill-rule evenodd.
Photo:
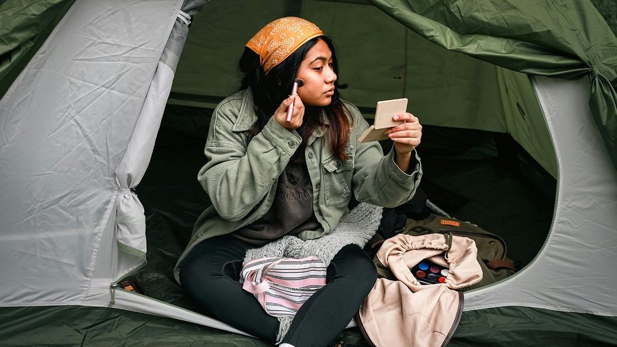
<instances>
[{"instance_id":1,"label":"gathered green tent flap hanging at the upper right corner","mask_svg":"<svg viewBox=\"0 0 617 347\"><path fill-rule=\"evenodd\" d=\"M369 0L431 42L513 71L590 76L588 101L617 169L617 38L588 0Z\"/></svg>"}]
</instances>

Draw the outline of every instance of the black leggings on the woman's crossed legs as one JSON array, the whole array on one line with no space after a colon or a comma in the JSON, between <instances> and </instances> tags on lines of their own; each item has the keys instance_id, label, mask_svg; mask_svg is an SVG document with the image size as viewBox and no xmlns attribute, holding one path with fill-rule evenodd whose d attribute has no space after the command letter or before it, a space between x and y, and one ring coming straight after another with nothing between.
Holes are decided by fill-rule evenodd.
<instances>
[{"instance_id":1,"label":"black leggings on the woman's crossed legs","mask_svg":"<svg viewBox=\"0 0 617 347\"><path fill-rule=\"evenodd\" d=\"M230 235L202 241L182 261L180 282L189 295L222 322L274 342L278 319L267 314L239 283L242 262L252 247ZM371 291L377 272L359 246L348 245L330 261L326 279L326 286L296 313L282 342L298 347L332 342Z\"/></svg>"}]
</instances>

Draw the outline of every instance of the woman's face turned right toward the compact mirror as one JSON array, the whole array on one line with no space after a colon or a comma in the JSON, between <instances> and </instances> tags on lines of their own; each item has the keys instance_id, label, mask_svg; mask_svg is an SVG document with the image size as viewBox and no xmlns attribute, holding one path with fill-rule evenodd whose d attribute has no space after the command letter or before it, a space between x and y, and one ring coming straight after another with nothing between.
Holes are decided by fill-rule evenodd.
<instances>
[{"instance_id":1,"label":"woman's face turned right toward the compact mirror","mask_svg":"<svg viewBox=\"0 0 617 347\"><path fill-rule=\"evenodd\" d=\"M298 96L307 106L328 106L334 95L337 75L332 70L332 51L324 40L309 49L300 63L298 76L304 85L298 88Z\"/></svg>"}]
</instances>

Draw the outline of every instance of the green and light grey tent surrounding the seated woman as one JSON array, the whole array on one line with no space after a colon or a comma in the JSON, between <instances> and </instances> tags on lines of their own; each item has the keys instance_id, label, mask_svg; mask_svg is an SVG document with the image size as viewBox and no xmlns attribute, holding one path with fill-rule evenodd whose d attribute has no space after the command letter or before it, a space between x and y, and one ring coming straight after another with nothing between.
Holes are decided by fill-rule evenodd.
<instances>
[{"instance_id":1,"label":"green and light grey tent surrounding the seated woman","mask_svg":"<svg viewBox=\"0 0 617 347\"><path fill-rule=\"evenodd\" d=\"M617 38L588 0L5 0L0 345L265 345L171 270L213 107L290 15L335 40L367 119L409 99L429 199L526 265L465 292L450 344L617 344Z\"/></svg>"}]
</instances>

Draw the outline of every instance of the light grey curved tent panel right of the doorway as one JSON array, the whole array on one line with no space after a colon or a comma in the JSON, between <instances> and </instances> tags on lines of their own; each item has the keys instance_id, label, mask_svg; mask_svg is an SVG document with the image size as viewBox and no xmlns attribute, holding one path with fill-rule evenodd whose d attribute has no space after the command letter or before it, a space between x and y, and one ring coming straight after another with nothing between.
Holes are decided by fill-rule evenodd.
<instances>
[{"instance_id":1,"label":"light grey curved tent panel right of the doorway","mask_svg":"<svg viewBox=\"0 0 617 347\"><path fill-rule=\"evenodd\" d=\"M589 81L534 80L559 162L553 226L531 265L470 292L465 311L526 306L617 316L617 278L610 275L617 259L617 175L585 103Z\"/></svg>"}]
</instances>

